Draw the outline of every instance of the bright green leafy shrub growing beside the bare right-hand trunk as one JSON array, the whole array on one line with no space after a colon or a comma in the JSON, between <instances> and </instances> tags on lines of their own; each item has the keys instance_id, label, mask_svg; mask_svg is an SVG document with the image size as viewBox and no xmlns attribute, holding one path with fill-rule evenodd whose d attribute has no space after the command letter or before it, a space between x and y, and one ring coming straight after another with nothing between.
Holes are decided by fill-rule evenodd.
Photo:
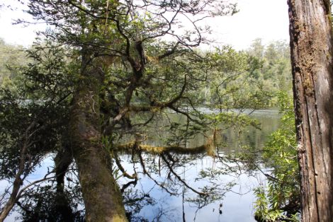
<instances>
[{"instance_id":1,"label":"bright green leafy shrub growing beside the bare right-hand trunk","mask_svg":"<svg viewBox=\"0 0 333 222\"><path fill-rule=\"evenodd\" d=\"M269 169L268 185L256 189L256 218L261 221L298 221L300 173L295 138L293 101L279 93L281 127L271 134L262 151L263 167Z\"/></svg>"}]
</instances>

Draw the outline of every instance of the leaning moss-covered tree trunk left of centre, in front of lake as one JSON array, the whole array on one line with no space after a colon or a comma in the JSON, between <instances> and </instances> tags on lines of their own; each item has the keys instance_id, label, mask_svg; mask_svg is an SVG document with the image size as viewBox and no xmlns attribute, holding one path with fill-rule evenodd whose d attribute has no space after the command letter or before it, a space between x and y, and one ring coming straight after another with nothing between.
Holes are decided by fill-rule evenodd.
<instances>
[{"instance_id":1,"label":"leaning moss-covered tree trunk left of centre, in front of lake","mask_svg":"<svg viewBox=\"0 0 333 222\"><path fill-rule=\"evenodd\" d=\"M82 66L74 93L69 122L86 221L127 221L123 198L112 175L110 156L101 144L98 95L102 78L96 67L86 64Z\"/></svg>"}]
</instances>

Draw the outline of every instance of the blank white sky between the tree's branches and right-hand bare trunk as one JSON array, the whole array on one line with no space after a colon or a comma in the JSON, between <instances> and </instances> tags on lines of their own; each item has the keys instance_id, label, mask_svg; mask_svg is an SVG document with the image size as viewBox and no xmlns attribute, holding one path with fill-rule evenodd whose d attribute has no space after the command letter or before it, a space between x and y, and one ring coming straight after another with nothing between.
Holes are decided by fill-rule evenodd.
<instances>
[{"instance_id":1,"label":"blank white sky between the tree's branches and right-hand bare trunk","mask_svg":"<svg viewBox=\"0 0 333 222\"><path fill-rule=\"evenodd\" d=\"M247 49L252 41L289 40L287 0L237 0L239 12L210 23L220 43Z\"/></svg>"}]
</instances>

